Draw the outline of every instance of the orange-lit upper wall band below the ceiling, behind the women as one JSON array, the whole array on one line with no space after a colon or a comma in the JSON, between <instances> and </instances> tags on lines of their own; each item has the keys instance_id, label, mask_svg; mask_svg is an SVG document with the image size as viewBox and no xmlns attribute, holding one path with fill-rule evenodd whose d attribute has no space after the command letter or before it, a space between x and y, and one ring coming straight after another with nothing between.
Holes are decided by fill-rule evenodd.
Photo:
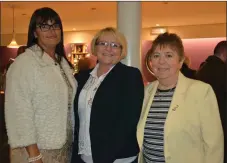
<instances>
[{"instance_id":1,"label":"orange-lit upper wall band below the ceiling, behind the women","mask_svg":"<svg viewBox=\"0 0 227 163\"><path fill-rule=\"evenodd\" d=\"M142 40L152 40L154 36L150 35L151 28L144 28L142 30ZM195 25L195 26L176 26L168 27L169 32L174 32L180 35L181 38L213 38L226 37L226 24L209 24L209 25ZM97 31L77 31L64 32L64 43L90 43L92 37ZM10 43L12 35L1 35L1 46L6 46ZM16 40L19 45L26 44L26 34L16 34Z\"/></svg>"}]
</instances>

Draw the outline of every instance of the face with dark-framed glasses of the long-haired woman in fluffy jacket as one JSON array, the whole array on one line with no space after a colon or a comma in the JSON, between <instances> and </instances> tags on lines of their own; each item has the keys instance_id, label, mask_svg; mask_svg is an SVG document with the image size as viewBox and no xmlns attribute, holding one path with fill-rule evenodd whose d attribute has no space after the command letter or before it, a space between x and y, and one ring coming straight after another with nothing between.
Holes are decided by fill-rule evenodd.
<instances>
[{"instance_id":1,"label":"face with dark-framed glasses of the long-haired woman in fluffy jacket","mask_svg":"<svg viewBox=\"0 0 227 163\"><path fill-rule=\"evenodd\" d=\"M34 35L38 39L40 46L55 48L61 41L60 24L55 24L54 20L48 20L46 23L36 27Z\"/></svg>"}]
</instances>

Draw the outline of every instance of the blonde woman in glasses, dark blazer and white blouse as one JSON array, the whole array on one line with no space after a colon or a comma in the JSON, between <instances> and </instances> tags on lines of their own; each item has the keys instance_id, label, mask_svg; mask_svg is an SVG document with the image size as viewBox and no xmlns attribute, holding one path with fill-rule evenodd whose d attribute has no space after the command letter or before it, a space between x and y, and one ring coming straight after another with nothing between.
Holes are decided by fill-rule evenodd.
<instances>
[{"instance_id":1,"label":"blonde woman in glasses, dark blazer and white blouse","mask_svg":"<svg viewBox=\"0 0 227 163\"><path fill-rule=\"evenodd\" d=\"M120 63L127 54L127 43L114 28L99 31L91 51L98 64L76 75L72 163L137 162L142 75L137 68Z\"/></svg>"}]
</instances>

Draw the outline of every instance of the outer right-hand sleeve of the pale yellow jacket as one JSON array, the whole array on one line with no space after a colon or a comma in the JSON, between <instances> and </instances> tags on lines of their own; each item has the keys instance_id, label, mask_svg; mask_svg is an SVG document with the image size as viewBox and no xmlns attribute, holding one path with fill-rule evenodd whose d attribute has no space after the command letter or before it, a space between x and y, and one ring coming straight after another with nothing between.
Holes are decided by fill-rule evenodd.
<instances>
[{"instance_id":1,"label":"outer right-hand sleeve of the pale yellow jacket","mask_svg":"<svg viewBox=\"0 0 227 163\"><path fill-rule=\"evenodd\" d=\"M209 86L201 100L201 131L204 141L204 163L223 163L224 136L216 96Z\"/></svg>"}]
</instances>

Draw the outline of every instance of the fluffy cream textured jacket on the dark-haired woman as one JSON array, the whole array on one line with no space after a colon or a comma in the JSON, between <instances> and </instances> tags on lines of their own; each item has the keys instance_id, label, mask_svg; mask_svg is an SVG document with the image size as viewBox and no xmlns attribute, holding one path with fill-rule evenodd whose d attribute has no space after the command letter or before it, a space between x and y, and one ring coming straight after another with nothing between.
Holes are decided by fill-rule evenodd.
<instances>
[{"instance_id":1,"label":"fluffy cream textured jacket on the dark-haired woman","mask_svg":"<svg viewBox=\"0 0 227 163\"><path fill-rule=\"evenodd\" d=\"M61 65L73 86L73 103L77 83L66 60ZM61 148L66 142L68 111L73 118L59 65L36 45L26 49L6 77L5 119L11 148L31 144L40 149Z\"/></svg>"}]
</instances>

